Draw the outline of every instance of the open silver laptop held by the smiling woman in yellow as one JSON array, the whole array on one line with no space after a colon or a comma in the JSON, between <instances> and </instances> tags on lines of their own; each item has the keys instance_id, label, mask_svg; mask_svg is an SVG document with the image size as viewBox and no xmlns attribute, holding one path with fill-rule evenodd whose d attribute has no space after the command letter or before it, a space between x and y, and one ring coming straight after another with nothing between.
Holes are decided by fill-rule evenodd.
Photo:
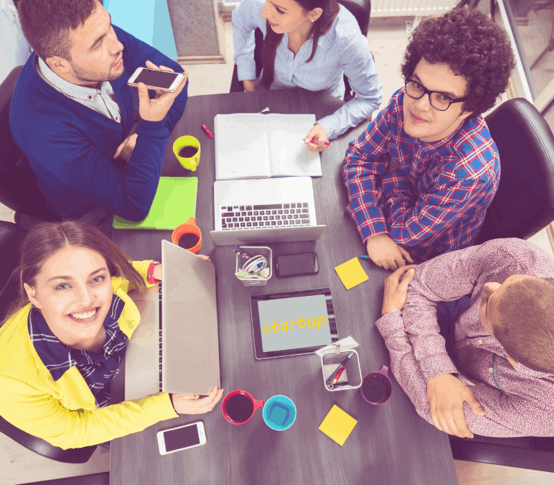
<instances>
[{"instance_id":1,"label":"open silver laptop held by the smiling woman in yellow","mask_svg":"<svg viewBox=\"0 0 554 485\"><path fill-rule=\"evenodd\" d=\"M127 345L125 400L221 385L213 264L166 240L161 262L161 283L129 293L141 322Z\"/></svg>"}]
</instances>

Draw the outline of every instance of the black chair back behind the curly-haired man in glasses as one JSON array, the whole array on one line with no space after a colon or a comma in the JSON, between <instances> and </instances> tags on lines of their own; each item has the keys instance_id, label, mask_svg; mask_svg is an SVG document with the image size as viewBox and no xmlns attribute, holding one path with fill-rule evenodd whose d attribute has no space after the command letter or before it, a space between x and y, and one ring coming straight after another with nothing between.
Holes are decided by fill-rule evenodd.
<instances>
[{"instance_id":1,"label":"black chair back behind the curly-haired man in glasses","mask_svg":"<svg viewBox=\"0 0 554 485\"><path fill-rule=\"evenodd\" d=\"M554 220L554 135L524 98L502 103L485 120L499 150L501 175L476 244L528 239Z\"/></svg>"}]
</instances>

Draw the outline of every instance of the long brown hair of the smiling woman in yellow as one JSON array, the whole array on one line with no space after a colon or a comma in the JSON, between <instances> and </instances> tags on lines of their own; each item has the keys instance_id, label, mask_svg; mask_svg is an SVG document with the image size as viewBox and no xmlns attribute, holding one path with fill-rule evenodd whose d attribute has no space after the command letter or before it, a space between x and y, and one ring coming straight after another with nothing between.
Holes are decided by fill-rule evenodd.
<instances>
[{"instance_id":1,"label":"long brown hair of the smiling woman in yellow","mask_svg":"<svg viewBox=\"0 0 554 485\"><path fill-rule=\"evenodd\" d=\"M21 247L21 276L19 278L19 297L12 302L2 326L15 312L21 310L29 299L23 283L35 286L35 278L42 270L45 261L64 247L86 247L97 252L106 260L110 276L123 276L135 288L143 290L142 276L129 262L129 255L119 249L96 227L79 221L42 222L33 226Z\"/></svg>"}]
</instances>

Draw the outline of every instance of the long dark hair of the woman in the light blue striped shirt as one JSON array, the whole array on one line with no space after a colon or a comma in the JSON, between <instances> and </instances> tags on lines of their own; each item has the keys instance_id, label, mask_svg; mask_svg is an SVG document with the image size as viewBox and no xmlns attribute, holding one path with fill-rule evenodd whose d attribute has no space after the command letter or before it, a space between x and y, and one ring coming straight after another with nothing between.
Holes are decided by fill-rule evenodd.
<instances>
[{"instance_id":1,"label":"long dark hair of the woman in the light blue striped shirt","mask_svg":"<svg viewBox=\"0 0 554 485\"><path fill-rule=\"evenodd\" d=\"M310 58L306 61L310 62L316 54L317 41L320 35L325 34L329 30L331 24L333 23L334 17L337 17L337 13L339 13L339 3L335 0L294 1L296 1L296 3L303 8L304 12L311 12L314 8L321 8L323 10L321 17L314 21L314 26L310 32L310 35L313 35L312 55L310 55ZM264 71L262 73L260 85L262 85L265 89L269 89L275 75L275 55L277 53L277 48L281 43L281 39L283 39L283 34L274 33L268 21L266 21L265 27L267 33L262 44L262 65Z\"/></svg>"}]
</instances>

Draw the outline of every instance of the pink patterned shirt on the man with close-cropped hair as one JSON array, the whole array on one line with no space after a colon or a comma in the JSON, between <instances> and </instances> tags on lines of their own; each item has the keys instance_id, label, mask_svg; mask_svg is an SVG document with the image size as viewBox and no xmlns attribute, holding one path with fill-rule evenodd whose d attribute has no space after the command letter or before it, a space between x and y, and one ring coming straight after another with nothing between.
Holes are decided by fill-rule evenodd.
<instances>
[{"instance_id":1,"label":"pink patterned shirt on the man with close-cropped hair","mask_svg":"<svg viewBox=\"0 0 554 485\"><path fill-rule=\"evenodd\" d=\"M481 324L483 285L514 274L554 280L554 259L532 243L497 239L438 256L415 270L406 304L377 320L391 354L391 370L422 418L432 423L427 380L454 373L485 409L467 403L467 427L483 436L554 436L554 375L512 367L502 347ZM471 304L456 321L453 360L439 335L436 302L465 294Z\"/></svg>"}]
</instances>

